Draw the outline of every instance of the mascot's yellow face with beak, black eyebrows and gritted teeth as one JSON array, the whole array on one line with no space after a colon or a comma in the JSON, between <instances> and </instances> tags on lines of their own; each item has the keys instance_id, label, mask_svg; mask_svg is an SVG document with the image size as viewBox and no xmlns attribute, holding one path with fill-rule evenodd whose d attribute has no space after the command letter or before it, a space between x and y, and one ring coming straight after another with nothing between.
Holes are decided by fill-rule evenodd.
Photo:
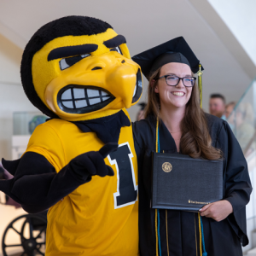
<instances>
[{"instance_id":1,"label":"mascot's yellow face with beak, black eyebrows and gritted teeth","mask_svg":"<svg viewBox=\"0 0 256 256\"><path fill-rule=\"evenodd\" d=\"M143 89L140 67L131 61L125 38L110 28L45 44L33 56L32 81L45 106L71 121L130 108Z\"/></svg>"}]
</instances>

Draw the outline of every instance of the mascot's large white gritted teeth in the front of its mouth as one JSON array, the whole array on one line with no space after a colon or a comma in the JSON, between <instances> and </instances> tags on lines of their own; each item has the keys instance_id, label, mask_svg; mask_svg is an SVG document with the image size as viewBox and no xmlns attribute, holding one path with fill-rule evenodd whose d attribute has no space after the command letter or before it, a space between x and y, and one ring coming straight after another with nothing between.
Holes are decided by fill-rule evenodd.
<instances>
[{"instance_id":1,"label":"mascot's large white gritted teeth in the front of its mouth","mask_svg":"<svg viewBox=\"0 0 256 256\"><path fill-rule=\"evenodd\" d=\"M103 90L69 88L61 94L61 103L66 108L85 108L108 101L111 96Z\"/></svg>"}]
</instances>

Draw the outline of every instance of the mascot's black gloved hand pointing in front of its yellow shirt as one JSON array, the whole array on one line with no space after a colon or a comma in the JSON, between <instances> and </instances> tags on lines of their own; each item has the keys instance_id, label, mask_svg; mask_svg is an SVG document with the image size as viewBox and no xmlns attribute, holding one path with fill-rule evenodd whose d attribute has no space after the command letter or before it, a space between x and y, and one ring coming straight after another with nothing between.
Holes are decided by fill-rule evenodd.
<instances>
[{"instance_id":1,"label":"mascot's black gloved hand pointing in front of its yellow shirt","mask_svg":"<svg viewBox=\"0 0 256 256\"><path fill-rule=\"evenodd\" d=\"M90 151L84 154L79 154L70 161L68 166L77 174L78 177L90 181L91 176L98 175L100 177L113 176L113 169L107 166L104 158L108 154L118 148L118 143L108 143L99 151Z\"/></svg>"}]
</instances>

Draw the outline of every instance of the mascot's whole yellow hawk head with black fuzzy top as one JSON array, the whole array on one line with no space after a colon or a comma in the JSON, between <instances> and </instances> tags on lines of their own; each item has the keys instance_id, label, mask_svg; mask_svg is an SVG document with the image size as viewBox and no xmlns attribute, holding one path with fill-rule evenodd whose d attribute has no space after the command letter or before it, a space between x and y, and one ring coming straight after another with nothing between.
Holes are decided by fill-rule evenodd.
<instances>
[{"instance_id":1,"label":"mascot's whole yellow hawk head with black fuzzy top","mask_svg":"<svg viewBox=\"0 0 256 256\"><path fill-rule=\"evenodd\" d=\"M96 119L130 108L143 90L125 37L107 22L67 16L42 26L21 61L32 104L51 118Z\"/></svg>"}]
</instances>

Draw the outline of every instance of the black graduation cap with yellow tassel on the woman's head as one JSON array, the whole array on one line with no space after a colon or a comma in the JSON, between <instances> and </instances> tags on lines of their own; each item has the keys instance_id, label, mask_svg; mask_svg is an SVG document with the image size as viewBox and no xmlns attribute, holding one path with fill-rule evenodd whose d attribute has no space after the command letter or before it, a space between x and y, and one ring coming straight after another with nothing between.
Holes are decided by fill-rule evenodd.
<instances>
[{"instance_id":1,"label":"black graduation cap with yellow tassel on the woman's head","mask_svg":"<svg viewBox=\"0 0 256 256\"><path fill-rule=\"evenodd\" d=\"M201 94L201 74L203 67L201 67L200 61L183 37L174 38L164 44L145 50L138 55L134 55L131 59L140 65L143 75L148 80L154 71L167 63L177 62L187 64L193 73L198 74L198 84Z\"/></svg>"}]
</instances>

